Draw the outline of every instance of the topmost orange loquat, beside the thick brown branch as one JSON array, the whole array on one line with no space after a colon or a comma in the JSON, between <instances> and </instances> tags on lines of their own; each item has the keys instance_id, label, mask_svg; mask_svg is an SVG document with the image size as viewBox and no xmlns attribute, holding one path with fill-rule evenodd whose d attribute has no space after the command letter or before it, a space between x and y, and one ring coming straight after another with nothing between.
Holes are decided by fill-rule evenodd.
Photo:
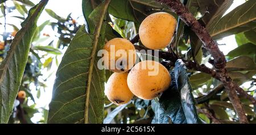
<instances>
[{"instance_id":1,"label":"topmost orange loquat, beside the thick brown branch","mask_svg":"<svg viewBox=\"0 0 256 135\"><path fill-rule=\"evenodd\" d=\"M158 50L172 41L177 21L166 12L157 12L147 16L139 27L139 37L148 49Z\"/></svg>"}]
</instances>

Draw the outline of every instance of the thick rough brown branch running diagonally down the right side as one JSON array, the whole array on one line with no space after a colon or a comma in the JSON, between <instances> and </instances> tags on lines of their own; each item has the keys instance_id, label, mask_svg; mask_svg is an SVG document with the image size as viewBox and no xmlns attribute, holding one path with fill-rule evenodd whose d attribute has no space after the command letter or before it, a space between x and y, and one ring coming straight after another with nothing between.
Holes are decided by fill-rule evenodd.
<instances>
[{"instance_id":1,"label":"thick rough brown branch running diagonally down the right side","mask_svg":"<svg viewBox=\"0 0 256 135\"><path fill-rule=\"evenodd\" d=\"M234 109L237 112L237 115L240 119L240 123L248 123L247 117L245 115L245 111L242 108L242 104L238 95L236 93L237 85L234 84L232 79L228 76L228 72L225 69L226 59L225 55L220 51L216 42L213 41L210 34L207 32L207 29L203 27L197 21L191 12L188 11L188 8L180 2L180 0L155 0L160 3L166 4L173 12L179 15L180 20L184 21L191 30L195 32L197 37L203 42L205 49L209 51L209 53L214 58L214 67L216 68L217 76L220 78L221 82L224 84L225 89L227 89L229 99L233 104Z\"/></svg>"}]
</instances>

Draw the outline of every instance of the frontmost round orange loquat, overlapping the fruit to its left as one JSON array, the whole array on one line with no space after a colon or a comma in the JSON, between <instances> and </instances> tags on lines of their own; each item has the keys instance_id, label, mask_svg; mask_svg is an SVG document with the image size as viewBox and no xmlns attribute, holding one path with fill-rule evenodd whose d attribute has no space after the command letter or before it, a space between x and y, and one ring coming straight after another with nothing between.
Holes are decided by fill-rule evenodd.
<instances>
[{"instance_id":1,"label":"frontmost round orange loquat, overlapping the fruit to its left","mask_svg":"<svg viewBox=\"0 0 256 135\"><path fill-rule=\"evenodd\" d=\"M147 65L142 67L142 65ZM152 66L150 66L152 65ZM155 75L148 75L155 71ZM160 63L145 60L136 64L127 77L127 84L131 92L141 99L153 99L161 92L167 90L171 83L168 70Z\"/></svg>"}]
</instances>

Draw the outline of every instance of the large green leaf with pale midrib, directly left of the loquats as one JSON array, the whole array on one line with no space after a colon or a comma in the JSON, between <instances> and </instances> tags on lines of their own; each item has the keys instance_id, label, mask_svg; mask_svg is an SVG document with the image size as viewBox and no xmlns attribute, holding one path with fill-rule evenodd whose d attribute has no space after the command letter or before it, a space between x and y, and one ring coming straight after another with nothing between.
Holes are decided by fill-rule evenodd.
<instances>
[{"instance_id":1,"label":"large green leaf with pale midrib, directly left of the loquats","mask_svg":"<svg viewBox=\"0 0 256 135\"><path fill-rule=\"evenodd\" d=\"M94 32L87 33L83 25L65 52L53 85L48 123L103 123L105 71L97 67L96 51L105 44L109 2L89 15Z\"/></svg>"}]
</instances>

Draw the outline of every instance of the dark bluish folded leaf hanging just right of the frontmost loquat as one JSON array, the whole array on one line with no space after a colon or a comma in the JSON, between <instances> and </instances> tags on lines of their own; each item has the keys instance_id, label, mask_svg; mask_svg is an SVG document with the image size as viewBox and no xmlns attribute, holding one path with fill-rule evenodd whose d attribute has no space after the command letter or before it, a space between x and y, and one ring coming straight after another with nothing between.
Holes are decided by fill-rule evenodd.
<instances>
[{"instance_id":1,"label":"dark bluish folded leaf hanging just right of the frontmost loquat","mask_svg":"<svg viewBox=\"0 0 256 135\"><path fill-rule=\"evenodd\" d=\"M159 103L151 101L155 112L152 123L202 123L196 111L187 68L182 60L177 60L171 76L171 86L161 95Z\"/></svg>"}]
</instances>

